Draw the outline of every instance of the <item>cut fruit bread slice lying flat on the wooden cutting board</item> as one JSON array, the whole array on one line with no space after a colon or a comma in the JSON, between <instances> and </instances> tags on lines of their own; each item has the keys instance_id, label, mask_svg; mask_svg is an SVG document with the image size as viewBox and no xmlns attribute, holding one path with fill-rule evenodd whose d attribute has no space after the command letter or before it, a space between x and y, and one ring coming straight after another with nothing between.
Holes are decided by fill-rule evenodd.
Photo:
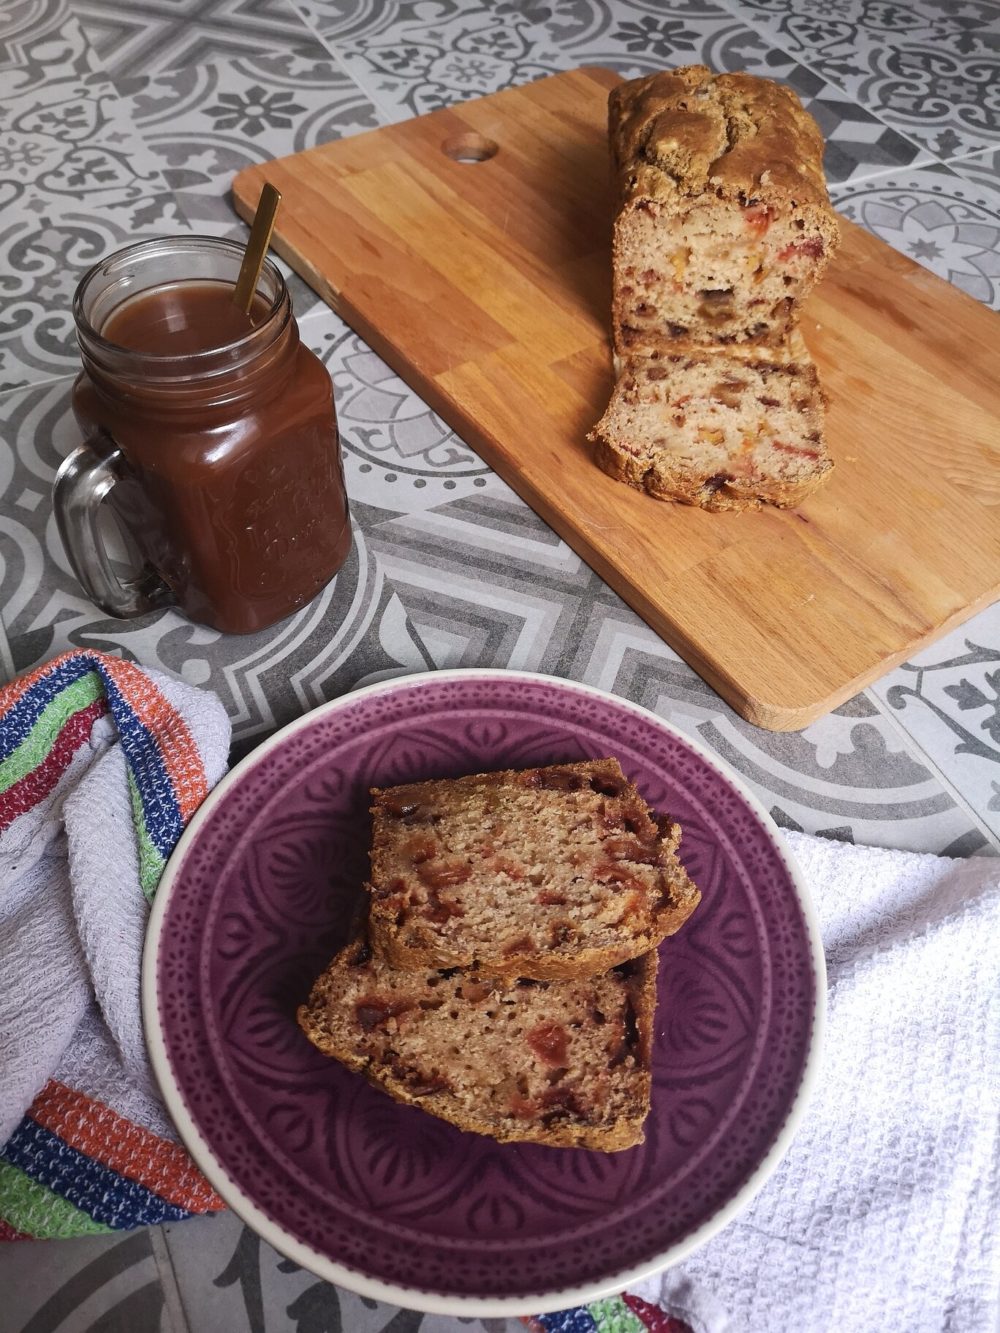
<instances>
[{"instance_id":1,"label":"cut fruit bread slice lying flat on the wooden cutting board","mask_svg":"<svg viewBox=\"0 0 1000 1333\"><path fill-rule=\"evenodd\" d=\"M657 500L791 508L833 467L823 424L816 368L796 336L787 356L628 359L589 439L609 476Z\"/></svg>"}]
</instances>

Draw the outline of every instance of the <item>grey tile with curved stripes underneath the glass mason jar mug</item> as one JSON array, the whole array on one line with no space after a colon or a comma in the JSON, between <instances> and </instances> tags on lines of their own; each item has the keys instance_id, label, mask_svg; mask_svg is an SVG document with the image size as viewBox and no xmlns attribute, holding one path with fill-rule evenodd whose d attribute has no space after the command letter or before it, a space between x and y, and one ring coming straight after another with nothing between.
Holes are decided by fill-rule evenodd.
<instances>
[{"instance_id":1,"label":"grey tile with curved stripes underneath the glass mason jar mug","mask_svg":"<svg viewBox=\"0 0 1000 1333\"><path fill-rule=\"evenodd\" d=\"M357 684L432 665L363 531L308 607L260 635L220 635L173 611L116 620L83 595L63 552L49 491L79 443L69 380L0 396L0 608L12 673L71 647L100 648L216 690L237 753ZM384 519L383 513L376 517Z\"/></svg>"}]
</instances>

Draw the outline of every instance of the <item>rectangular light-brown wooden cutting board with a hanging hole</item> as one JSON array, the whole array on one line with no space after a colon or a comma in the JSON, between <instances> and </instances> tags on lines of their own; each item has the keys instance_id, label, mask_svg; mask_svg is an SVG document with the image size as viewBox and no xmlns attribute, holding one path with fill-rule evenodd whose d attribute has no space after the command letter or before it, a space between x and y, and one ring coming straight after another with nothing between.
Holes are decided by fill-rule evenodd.
<instances>
[{"instance_id":1,"label":"rectangular light-brown wooden cutting board with a hanging hole","mask_svg":"<svg viewBox=\"0 0 1000 1333\"><path fill-rule=\"evenodd\" d=\"M585 435L612 381L616 81L579 69L253 167L236 207L277 185L277 252L739 713L792 730L1000 593L1000 323L845 221L803 319L829 483L709 515L612 481Z\"/></svg>"}]
</instances>

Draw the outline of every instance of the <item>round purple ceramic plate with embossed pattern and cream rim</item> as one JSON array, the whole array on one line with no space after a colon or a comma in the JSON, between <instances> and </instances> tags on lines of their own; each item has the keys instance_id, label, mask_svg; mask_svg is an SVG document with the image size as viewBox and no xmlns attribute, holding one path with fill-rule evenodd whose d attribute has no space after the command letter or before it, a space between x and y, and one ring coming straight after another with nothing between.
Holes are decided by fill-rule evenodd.
<instances>
[{"instance_id":1,"label":"round purple ceramic plate with embossed pattern and cream rim","mask_svg":"<svg viewBox=\"0 0 1000 1333\"><path fill-rule=\"evenodd\" d=\"M641 1146L499 1145L309 1045L295 1010L344 940L369 786L608 754L681 822L703 894L661 949ZM167 1105L235 1212L328 1281L468 1316L620 1290L745 1208L801 1112L823 1000L815 918L740 782L643 708L493 670L373 685L248 756L167 866L143 976Z\"/></svg>"}]
</instances>

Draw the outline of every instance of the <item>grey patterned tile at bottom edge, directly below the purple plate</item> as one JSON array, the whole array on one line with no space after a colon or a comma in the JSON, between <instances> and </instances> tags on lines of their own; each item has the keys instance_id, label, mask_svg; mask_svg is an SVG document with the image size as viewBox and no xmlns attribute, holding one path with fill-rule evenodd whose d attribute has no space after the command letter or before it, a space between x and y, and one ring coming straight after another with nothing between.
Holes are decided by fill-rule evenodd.
<instances>
[{"instance_id":1,"label":"grey patterned tile at bottom edge, directly below the purple plate","mask_svg":"<svg viewBox=\"0 0 1000 1333\"><path fill-rule=\"evenodd\" d=\"M232 1216L164 1228L191 1333L524 1333L516 1320L455 1320L321 1282Z\"/></svg>"}]
</instances>

